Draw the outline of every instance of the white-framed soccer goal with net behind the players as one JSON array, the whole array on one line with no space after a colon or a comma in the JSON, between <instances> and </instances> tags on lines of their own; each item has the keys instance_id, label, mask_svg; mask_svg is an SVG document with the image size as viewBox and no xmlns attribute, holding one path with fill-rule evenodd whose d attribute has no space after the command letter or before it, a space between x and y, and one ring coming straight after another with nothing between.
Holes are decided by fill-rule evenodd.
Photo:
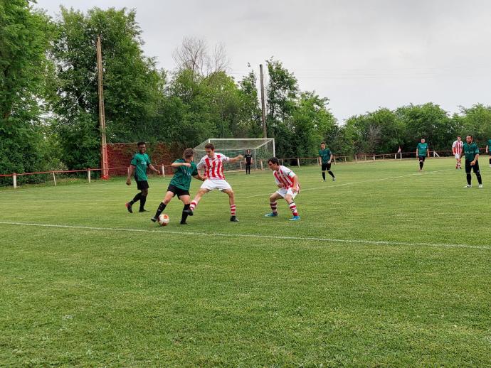
<instances>
[{"instance_id":1,"label":"white-framed soccer goal with net behind the players","mask_svg":"<svg viewBox=\"0 0 491 368\"><path fill-rule=\"evenodd\" d=\"M228 157L244 156L247 150L253 156L252 168L263 170L268 167L268 159L275 156L275 139L273 138L238 138L238 139L206 139L194 148L194 161L197 163L206 156L206 144L212 143L216 153L223 153ZM245 168L243 160L236 163L225 163L226 170L242 170Z\"/></svg>"}]
</instances>

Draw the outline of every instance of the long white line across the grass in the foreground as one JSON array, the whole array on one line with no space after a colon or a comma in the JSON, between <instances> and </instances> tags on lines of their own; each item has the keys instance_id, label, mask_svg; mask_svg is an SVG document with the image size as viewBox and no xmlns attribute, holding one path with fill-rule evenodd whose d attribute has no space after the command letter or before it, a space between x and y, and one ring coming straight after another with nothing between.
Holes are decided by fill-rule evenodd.
<instances>
[{"instance_id":1,"label":"long white line across the grass in the foreground","mask_svg":"<svg viewBox=\"0 0 491 368\"><path fill-rule=\"evenodd\" d=\"M332 243L347 243L347 244L372 244L372 245L406 245L406 246L422 246L422 247L438 247L438 248L469 248L469 249L483 249L491 250L491 246L488 245L470 245L470 244L445 244L445 243L425 243L425 242L391 242L388 240L369 240L369 239L332 239L321 237L282 237L276 235L262 235L262 234L226 234L222 232L176 232L172 230L149 230L149 229L122 229L120 227L91 227L91 226L75 226L75 225L61 225L61 224L33 224L28 222L4 222L0 224L5 225L19 225L19 226L34 226L34 227L57 227L63 229L83 229L83 230L97 230L97 231L113 231L113 232L145 232L145 233L159 233L159 234L176 234L176 235L192 235L196 237L241 237L241 238L253 238L253 239L281 239L281 240L304 240L310 242L332 242Z\"/></svg>"}]
</instances>

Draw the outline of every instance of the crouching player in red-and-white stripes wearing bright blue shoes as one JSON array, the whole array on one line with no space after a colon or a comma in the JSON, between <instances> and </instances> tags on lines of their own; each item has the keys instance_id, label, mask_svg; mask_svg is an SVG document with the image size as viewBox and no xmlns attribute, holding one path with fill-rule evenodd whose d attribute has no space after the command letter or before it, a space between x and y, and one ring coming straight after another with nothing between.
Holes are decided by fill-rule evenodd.
<instances>
[{"instance_id":1,"label":"crouching player in red-and-white stripes wearing bright blue shoes","mask_svg":"<svg viewBox=\"0 0 491 368\"><path fill-rule=\"evenodd\" d=\"M292 211L293 217L288 221L297 221L300 220L300 216L298 215L297 205L293 200L300 193L300 183L298 183L297 175L289 168L280 165L280 161L278 158L270 158L268 160L268 166L271 170L273 170L273 176L275 177L275 183L278 185L278 189L275 193L270 195L270 207L271 213L265 215L265 217L276 217L278 216L278 202L276 202L280 198L285 198L288 203L288 207L290 207L290 211Z\"/></svg>"}]
</instances>

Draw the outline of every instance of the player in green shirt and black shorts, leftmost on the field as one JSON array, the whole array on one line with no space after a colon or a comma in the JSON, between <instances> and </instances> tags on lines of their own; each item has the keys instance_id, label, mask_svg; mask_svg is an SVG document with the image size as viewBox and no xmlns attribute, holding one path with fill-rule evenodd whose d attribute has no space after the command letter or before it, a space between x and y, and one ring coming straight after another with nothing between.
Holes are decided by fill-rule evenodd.
<instances>
[{"instance_id":1,"label":"player in green shirt and black shorts, leftmost on the field","mask_svg":"<svg viewBox=\"0 0 491 368\"><path fill-rule=\"evenodd\" d=\"M152 163L150 162L150 158L145 153L147 151L147 145L145 142L138 142L138 152L134 154L130 168L128 170L128 177L126 179L126 185L131 185L131 177L134 173L134 180L137 182L137 188L140 192L134 196L130 202L127 202L126 208L128 212L133 213L132 205L139 201L139 212L146 212L145 210L145 202L147 202L148 195L148 178L147 178L147 167L150 168L154 173L160 174Z\"/></svg>"}]
</instances>

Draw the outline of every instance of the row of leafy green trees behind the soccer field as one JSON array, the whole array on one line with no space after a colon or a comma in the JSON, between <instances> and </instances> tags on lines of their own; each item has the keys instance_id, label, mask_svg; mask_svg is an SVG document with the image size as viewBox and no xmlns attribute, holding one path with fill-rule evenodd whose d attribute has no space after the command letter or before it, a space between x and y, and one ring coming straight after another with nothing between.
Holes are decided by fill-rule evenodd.
<instances>
[{"instance_id":1,"label":"row of leafy green trees behind the soccer field","mask_svg":"<svg viewBox=\"0 0 491 368\"><path fill-rule=\"evenodd\" d=\"M221 45L184 38L174 68L144 55L134 10L60 7L53 19L33 1L0 0L0 173L100 166L95 40L102 38L107 141L194 147L210 137L262 137L258 77L235 80ZM265 60L268 137L280 157L413 151L424 137L448 149L457 134L491 137L491 107L450 115L438 104L337 121L329 99L303 91L280 60Z\"/></svg>"}]
</instances>

